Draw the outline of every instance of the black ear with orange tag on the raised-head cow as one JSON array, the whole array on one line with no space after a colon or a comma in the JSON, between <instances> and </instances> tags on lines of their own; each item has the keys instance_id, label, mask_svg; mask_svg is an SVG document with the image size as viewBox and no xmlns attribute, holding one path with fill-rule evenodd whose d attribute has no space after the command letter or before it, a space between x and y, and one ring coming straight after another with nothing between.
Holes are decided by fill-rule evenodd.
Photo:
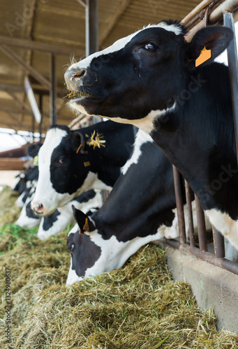
<instances>
[{"instance_id":1,"label":"black ear with orange tag on the raised-head cow","mask_svg":"<svg viewBox=\"0 0 238 349\"><path fill-rule=\"evenodd\" d=\"M187 58L195 61L200 57L202 52L204 60L201 57L200 64L207 64L213 61L221 54L229 45L234 34L231 29L226 27L206 27L198 31L193 37L191 43L188 44ZM196 62L196 66L200 65Z\"/></svg>"}]
</instances>

